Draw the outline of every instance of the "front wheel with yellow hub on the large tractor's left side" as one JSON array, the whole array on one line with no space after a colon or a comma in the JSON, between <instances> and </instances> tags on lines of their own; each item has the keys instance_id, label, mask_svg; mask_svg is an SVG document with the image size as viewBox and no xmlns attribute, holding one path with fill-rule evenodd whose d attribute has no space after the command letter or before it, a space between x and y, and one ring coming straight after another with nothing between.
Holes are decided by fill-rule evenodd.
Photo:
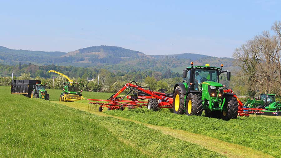
<instances>
[{"instance_id":1,"label":"front wheel with yellow hub on the large tractor's left side","mask_svg":"<svg viewBox=\"0 0 281 158\"><path fill-rule=\"evenodd\" d=\"M200 93L189 93L185 102L185 114L200 116L203 111L202 96Z\"/></svg>"}]
</instances>

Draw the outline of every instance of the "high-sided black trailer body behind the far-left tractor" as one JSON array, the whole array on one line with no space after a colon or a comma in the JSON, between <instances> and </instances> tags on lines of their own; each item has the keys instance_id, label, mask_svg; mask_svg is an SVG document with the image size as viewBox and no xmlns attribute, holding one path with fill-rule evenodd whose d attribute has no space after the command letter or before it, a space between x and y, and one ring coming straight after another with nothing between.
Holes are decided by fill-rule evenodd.
<instances>
[{"instance_id":1,"label":"high-sided black trailer body behind the far-left tractor","mask_svg":"<svg viewBox=\"0 0 281 158\"><path fill-rule=\"evenodd\" d=\"M41 81L32 79L13 79L11 84L11 94L23 94L30 97L33 86L35 87L36 84L41 84Z\"/></svg>"}]
</instances>

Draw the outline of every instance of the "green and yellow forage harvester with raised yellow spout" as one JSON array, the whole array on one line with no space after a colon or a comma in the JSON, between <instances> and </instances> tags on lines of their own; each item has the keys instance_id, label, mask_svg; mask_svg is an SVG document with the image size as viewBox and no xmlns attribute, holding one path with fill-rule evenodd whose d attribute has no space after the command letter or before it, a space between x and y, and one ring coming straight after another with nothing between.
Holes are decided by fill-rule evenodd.
<instances>
[{"instance_id":1,"label":"green and yellow forage harvester with raised yellow spout","mask_svg":"<svg viewBox=\"0 0 281 158\"><path fill-rule=\"evenodd\" d=\"M79 83L72 81L67 75L57 72L55 70L50 70L50 72L54 72L56 74L62 75L68 81L66 81L63 85L62 93L60 95L60 102L73 102L76 100L85 99L82 96L82 90L79 89Z\"/></svg>"}]
</instances>

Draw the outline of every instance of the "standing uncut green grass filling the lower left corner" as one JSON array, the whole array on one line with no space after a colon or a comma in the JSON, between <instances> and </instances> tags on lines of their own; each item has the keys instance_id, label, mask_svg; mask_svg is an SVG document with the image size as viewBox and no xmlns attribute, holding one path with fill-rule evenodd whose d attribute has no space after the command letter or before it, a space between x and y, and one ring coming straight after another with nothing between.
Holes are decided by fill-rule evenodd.
<instances>
[{"instance_id":1,"label":"standing uncut green grass filling the lower left corner","mask_svg":"<svg viewBox=\"0 0 281 158\"><path fill-rule=\"evenodd\" d=\"M78 110L8 92L1 86L0 157L147 157Z\"/></svg>"}]
</instances>

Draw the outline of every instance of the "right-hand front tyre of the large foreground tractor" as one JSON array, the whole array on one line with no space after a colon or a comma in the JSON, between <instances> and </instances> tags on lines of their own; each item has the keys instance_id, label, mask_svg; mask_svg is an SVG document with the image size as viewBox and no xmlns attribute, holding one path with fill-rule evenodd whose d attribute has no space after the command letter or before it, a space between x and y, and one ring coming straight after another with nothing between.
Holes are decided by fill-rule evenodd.
<instances>
[{"instance_id":1,"label":"right-hand front tyre of the large foreground tractor","mask_svg":"<svg viewBox=\"0 0 281 158\"><path fill-rule=\"evenodd\" d=\"M225 103L227 103L227 111L222 111L222 119L230 120L232 118L237 118L238 115L238 100L234 96L226 96Z\"/></svg>"}]
</instances>

